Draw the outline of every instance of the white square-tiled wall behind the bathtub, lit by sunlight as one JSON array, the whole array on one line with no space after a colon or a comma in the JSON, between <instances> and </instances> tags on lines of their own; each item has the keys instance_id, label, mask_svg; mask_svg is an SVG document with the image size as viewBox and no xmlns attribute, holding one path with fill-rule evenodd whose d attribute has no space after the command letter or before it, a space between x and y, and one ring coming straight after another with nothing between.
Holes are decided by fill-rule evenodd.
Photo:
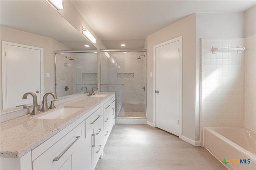
<instances>
[{"instance_id":1,"label":"white square-tiled wall behind the bathtub, lit by sunlight","mask_svg":"<svg viewBox=\"0 0 256 170\"><path fill-rule=\"evenodd\" d=\"M201 39L201 134L204 127L244 127L244 51L212 47L244 47L244 39Z\"/></svg>"}]
</instances>

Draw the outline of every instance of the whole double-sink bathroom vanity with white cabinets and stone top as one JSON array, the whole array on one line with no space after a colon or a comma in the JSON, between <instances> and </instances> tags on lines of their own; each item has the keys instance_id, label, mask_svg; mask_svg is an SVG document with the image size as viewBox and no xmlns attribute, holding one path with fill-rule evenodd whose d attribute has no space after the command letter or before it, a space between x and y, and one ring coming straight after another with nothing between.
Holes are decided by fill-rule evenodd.
<instances>
[{"instance_id":1,"label":"whole double-sink bathroom vanity with white cabinets and stone top","mask_svg":"<svg viewBox=\"0 0 256 170\"><path fill-rule=\"evenodd\" d=\"M115 93L1 123L1 169L94 169L115 125Z\"/></svg>"}]
</instances>

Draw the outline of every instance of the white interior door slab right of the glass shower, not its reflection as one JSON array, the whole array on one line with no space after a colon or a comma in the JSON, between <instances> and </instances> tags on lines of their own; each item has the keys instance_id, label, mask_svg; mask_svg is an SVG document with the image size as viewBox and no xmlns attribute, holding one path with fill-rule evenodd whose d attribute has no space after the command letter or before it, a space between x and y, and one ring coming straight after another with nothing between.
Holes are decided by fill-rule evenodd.
<instances>
[{"instance_id":1,"label":"white interior door slab right of the glass shower, not its reflection","mask_svg":"<svg viewBox=\"0 0 256 170\"><path fill-rule=\"evenodd\" d=\"M155 48L156 127L179 136L181 106L180 41Z\"/></svg>"}]
</instances>

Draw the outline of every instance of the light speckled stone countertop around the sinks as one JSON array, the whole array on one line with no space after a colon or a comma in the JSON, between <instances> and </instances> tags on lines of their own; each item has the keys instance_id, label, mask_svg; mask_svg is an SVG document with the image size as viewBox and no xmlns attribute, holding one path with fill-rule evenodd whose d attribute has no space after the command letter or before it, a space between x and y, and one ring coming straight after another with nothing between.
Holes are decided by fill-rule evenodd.
<instances>
[{"instance_id":1,"label":"light speckled stone countertop around the sinks","mask_svg":"<svg viewBox=\"0 0 256 170\"><path fill-rule=\"evenodd\" d=\"M60 107L84 107L76 113L64 119L34 119L50 113L50 111L40 113L38 115L25 115L0 123L1 134L1 157L5 158L20 158L26 153L30 152L60 130L64 129L80 117L86 115L90 110L95 108L101 102L105 101L114 93L96 93L108 94L106 97L88 97L84 96L61 105L57 105L56 109ZM110 99L110 98L109 98ZM56 110L53 109L52 111ZM88 114L88 116L90 116ZM87 116L87 117L88 117Z\"/></svg>"}]
</instances>

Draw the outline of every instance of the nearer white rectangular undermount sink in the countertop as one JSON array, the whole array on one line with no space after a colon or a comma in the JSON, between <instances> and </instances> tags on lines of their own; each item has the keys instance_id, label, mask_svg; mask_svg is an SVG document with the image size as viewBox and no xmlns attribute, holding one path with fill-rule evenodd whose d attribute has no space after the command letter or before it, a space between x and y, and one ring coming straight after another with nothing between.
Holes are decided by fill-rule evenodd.
<instances>
[{"instance_id":1,"label":"nearer white rectangular undermount sink in the countertop","mask_svg":"<svg viewBox=\"0 0 256 170\"><path fill-rule=\"evenodd\" d=\"M46 115L36 117L36 119L64 119L69 117L70 115L76 113L82 108L70 108L70 107L62 107L56 111L50 112Z\"/></svg>"}]
</instances>

